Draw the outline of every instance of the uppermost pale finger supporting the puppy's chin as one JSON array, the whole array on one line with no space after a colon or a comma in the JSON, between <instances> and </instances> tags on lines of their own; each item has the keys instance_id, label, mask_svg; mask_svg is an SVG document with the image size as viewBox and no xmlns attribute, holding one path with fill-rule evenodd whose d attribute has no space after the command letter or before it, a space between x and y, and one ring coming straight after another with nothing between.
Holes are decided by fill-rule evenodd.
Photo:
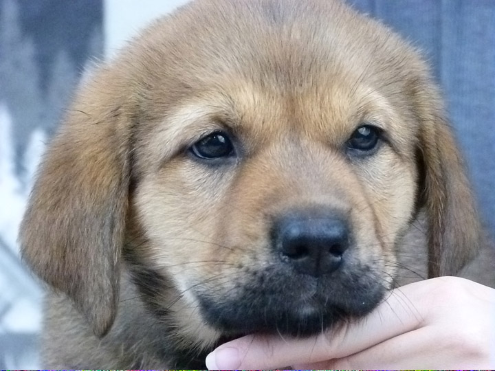
<instances>
[{"instance_id":1,"label":"uppermost pale finger supporting the puppy's chin","mask_svg":"<svg viewBox=\"0 0 495 371\"><path fill-rule=\"evenodd\" d=\"M417 284L394 290L369 316L316 337L282 339L250 335L230 341L208 355L207 366L210 369L280 368L360 352L421 326L424 308L412 304L422 302L417 300L417 295L421 297L423 289Z\"/></svg>"}]
</instances>

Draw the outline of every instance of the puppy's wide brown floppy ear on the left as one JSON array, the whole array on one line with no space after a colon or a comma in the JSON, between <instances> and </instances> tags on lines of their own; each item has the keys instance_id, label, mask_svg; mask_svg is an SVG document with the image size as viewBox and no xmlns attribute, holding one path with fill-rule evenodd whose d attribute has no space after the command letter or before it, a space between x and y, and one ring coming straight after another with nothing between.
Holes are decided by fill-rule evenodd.
<instances>
[{"instance_id":1,"label":"puppy's wide brown floppy ear on the left","mask_svg":"<svg viewBox=\"0 0 495 371\"><path fill-rule=\"evenodd\" d=\"M99 336L115 319L130 171L129 115L102 91L86 87L52 140L19 235L23 259Z\"/></svg>"}]
</instances>

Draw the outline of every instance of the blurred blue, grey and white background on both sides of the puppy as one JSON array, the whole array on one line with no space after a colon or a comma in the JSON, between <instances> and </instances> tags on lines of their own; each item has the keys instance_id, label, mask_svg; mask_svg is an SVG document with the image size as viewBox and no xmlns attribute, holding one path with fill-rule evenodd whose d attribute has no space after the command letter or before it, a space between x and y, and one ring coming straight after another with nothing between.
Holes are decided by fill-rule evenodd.
<instances>
[{"instance_id":1,"label":"blurred blue, grey and white background on both sides of the puppy","mask_svg":"<svg viewBox=\"0 0 495 371\"><path fill-rule=\"evenodd\" d=\"M36 342L43 290L23 267L16 238L63 108L85 69L187 2L0 0L0 369L42 367ZM391 25L430 60L493 236L495 1L348 2Z\"/></svg>"}]
</instances>

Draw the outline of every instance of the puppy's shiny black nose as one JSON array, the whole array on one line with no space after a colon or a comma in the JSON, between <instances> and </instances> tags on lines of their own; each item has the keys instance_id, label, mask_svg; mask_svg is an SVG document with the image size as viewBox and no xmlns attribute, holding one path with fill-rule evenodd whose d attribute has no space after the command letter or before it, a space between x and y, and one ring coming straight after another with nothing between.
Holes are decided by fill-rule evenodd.
<instances>
[{"instance_id":1,"label":"puppy's shiny black nose","mask_svg":"<svg viewBox=\"0 0 495 371\"><path fill-rule=\"evenodd\" d=\"M340 216L284 216L274 223L272 236L284 262L316 277L336 271L349 247L349 227Z\"/></svg>"}]
</instances>

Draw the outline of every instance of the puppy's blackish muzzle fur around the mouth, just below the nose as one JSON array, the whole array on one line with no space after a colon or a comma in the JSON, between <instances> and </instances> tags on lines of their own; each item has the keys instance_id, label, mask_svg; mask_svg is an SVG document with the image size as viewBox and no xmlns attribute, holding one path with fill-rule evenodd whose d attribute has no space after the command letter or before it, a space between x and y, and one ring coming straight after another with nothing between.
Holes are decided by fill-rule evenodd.
<instances>
[{"instance_id":1,"label":"puppy's blackish muzzle fur around the mouth, just below the nose","mask_svg":"<svg viewBox=\"0 0 495 371\"><path fill-rule=\"evenodd\" d=\"M382 301L386 286L370 270L314 278L287 272L257 273L236 295L197 293L203 318L223 334L315 335L362 317ZM218 291L217 291L218 292Z\"/></svg>"}]
</instances>

